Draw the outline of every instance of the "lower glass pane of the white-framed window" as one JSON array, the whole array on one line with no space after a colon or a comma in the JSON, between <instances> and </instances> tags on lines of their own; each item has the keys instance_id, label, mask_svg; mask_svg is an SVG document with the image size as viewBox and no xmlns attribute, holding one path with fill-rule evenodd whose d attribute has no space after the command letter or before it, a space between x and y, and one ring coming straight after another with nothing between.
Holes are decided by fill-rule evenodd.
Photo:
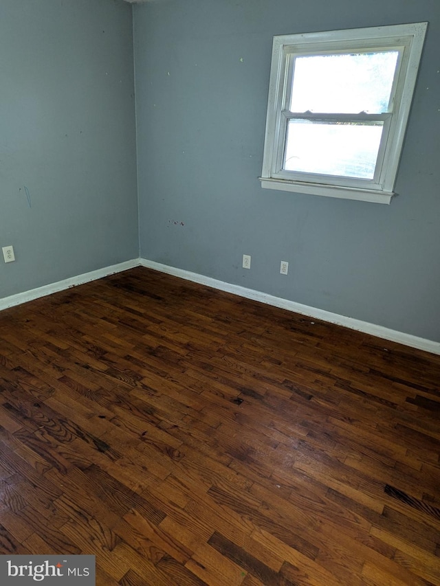
<instances>
[{"instance_id":1,"label":"lower glass pane of the white-framed window","mask_svg":"<svg viewBox=\"0 0 440 586\"><path fill-rule=\"evenodd\" d=\"M289 120L284 169L373 179L383 122Z\"/></svg>"}]
</instances>

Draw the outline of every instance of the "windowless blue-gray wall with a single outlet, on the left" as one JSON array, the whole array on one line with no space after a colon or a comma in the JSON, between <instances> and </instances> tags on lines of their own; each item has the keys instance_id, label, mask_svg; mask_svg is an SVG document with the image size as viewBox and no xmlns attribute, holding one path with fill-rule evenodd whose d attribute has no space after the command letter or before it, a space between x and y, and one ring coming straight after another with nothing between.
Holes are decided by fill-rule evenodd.
<instances>
[{"instance_id":1,"label":"windowless blue-gray wall with a single outlet, on the left","mask_svg":"<svg viewBox=\"0 0 440 586\"><path fill-rule=\"evenodd\" d=\"M1 0L0 79L0 297L136 258L131 5Z\"/></svg>"}]
</instances>

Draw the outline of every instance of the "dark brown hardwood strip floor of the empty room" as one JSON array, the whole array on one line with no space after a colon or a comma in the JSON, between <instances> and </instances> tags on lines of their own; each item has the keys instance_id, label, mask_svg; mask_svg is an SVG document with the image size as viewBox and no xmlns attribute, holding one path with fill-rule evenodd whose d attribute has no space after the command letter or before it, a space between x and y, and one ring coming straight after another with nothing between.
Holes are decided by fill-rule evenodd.
<instances>
[{"instance_id":1,"label":"dark brown hardwood strip floor of the empty room","mask_svg":"<svg viewBox=\"0 0 440 586\"><path fill-rule=\"evenodd\" d=\"M440 357L147 269L0 313L0 553L440 584Z\"/></svg>"}]
</instances>

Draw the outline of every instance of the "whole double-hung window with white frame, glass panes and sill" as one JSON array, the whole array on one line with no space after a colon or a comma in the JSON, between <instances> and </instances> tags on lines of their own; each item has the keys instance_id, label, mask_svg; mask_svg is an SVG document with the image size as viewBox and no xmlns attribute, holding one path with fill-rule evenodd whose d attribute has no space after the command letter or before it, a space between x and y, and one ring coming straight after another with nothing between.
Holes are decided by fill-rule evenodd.
<instances>
[{"instance_id":1,"label":"whole double-hung window with white frame, glass panes and sill","mask_svg":"<svg viewBox=\"0 0 440 586\"><path fill-rule=\"evenodd\" d=\"M275 36L263 188L390 203L427 25Z\"/></svg>"}]
</instances>

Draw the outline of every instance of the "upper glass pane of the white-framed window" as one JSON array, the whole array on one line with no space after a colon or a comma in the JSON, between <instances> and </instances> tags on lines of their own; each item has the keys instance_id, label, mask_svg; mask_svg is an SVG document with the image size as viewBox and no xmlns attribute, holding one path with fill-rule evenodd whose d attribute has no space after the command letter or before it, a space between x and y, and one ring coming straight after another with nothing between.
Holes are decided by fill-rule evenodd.
<instances>
[{"instance_id":1,"label":"upper glass pane of the white-framed window","mask_svg":"<svg viewBox=\"0 0 440 586\"><path fill-rule=\"evenodd\" d=\"M398 51L296 57L292 112L388 111Z\"/></svg>"}]
</instances>

